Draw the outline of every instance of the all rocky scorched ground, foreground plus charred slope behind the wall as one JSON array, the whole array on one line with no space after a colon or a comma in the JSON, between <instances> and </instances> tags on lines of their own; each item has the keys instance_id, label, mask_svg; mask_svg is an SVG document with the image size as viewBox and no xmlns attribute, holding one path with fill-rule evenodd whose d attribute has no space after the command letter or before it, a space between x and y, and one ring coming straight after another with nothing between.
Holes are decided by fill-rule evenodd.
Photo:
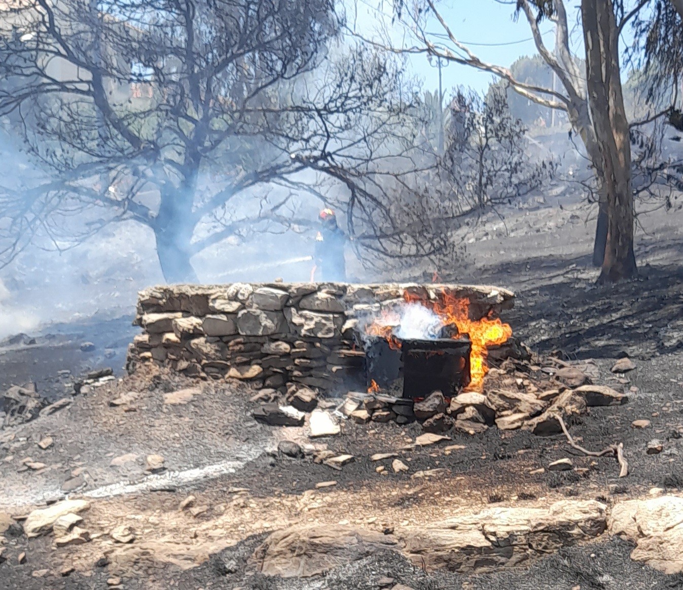
<instances>
[{"instance_id":1,"label":"all rocky scorched ground, foreground plus charred slope behind the wall","mask_svg":"<svg viewBox=\"0 0 683 590\"><path fill-rule=\"evenodd\" d=\"M485 391L517 379L525 392L525 379L573 391L557 375L571 368L624 394L567 423L587 451L623 444L626 477L613 455L586 455L561 432L424 438L419 421L335 414L343 398L318 400L338 433L311 437L311 412L301 426L256 420L262 390L242 381L148 364L123 376L123 329L64 330L61 347L41 333L0 356L17 368L5 390L52 392L36 418L0 429L0 588L683 587L680 224L650 227L641 278L611 289L594 285L578 214L550 226L546 213L489 224L469 245L476 282L516 292L505 320L537 355L529 368L555 368L502 366ZM628 370L613 372L625 356ZM114 375L79 381L109 365ZM24 389L15 396L34 399Z\"/></svg>"}]
</instances>

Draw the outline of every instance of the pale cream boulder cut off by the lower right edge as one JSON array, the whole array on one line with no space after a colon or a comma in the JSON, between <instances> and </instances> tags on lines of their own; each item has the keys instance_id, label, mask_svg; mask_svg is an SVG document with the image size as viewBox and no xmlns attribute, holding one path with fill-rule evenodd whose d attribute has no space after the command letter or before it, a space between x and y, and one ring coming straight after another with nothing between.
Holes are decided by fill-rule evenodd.
<instances>
[{"instance_id":1,"label":"pale cream boulder cut off by the lower right edge","mask_svg":"<svg viewBox=\"0 0 683 590\"><path fill-rule=\"evenodd\" d=\"M683 572L683 498L619 502L609 516L609 532L635 544L631 559L665 574Z\"/></svg>"}]
</instances>

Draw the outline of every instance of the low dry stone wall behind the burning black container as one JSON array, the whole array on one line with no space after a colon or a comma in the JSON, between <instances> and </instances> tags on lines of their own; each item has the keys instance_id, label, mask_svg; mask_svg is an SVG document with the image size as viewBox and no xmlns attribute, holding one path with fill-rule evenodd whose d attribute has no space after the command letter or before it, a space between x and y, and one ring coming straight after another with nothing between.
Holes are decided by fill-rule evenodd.
<instances>
[{"instance_id":1,"label":"low dry stone wall behind the burning black container","mask_svg":"<svg viewBox=\"0 0 683 590\"><path fill-rule=\"evenodd\" d=\"M406 291L425 300L467 297L473 319L514 300L505 289L456 284L156 286L139 293L135 323L143 332L128 349L128 371L154 362L186 375L329 392L350 378L364 381L359 317L395 305Z\"/></svg>"}]
</instances>

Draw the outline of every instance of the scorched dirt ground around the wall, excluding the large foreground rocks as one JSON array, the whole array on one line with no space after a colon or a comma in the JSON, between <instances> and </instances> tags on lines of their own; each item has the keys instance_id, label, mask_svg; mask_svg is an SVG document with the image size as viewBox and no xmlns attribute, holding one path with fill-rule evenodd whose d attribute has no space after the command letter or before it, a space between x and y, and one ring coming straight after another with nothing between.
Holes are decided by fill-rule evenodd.
<instances>
[{"instance_id":1,"label":"scorched dirt ground around the wall, excluding the large foreground rocks","mask_svg":"<svg viewBox=\"0 0 683 590\"><path fill-rule=\"evenodd\" d=\"M84 518L93 537L87 544L54 549L52 537L29 540L8 531L0 589L103 588L112 576L120 576L126 589L376 589L382 576L415 590L683 588L683 576L665 576L632 561L632 546L607 535L564 548L527 569L478 576L423 571L395 552L294 580L268 578L247 564L268 532L290 524L349 522L382 531L442 520L462 507L524 505L540 498L589 498L610 505L647 495L652 487L683 490L682 215L650 216L644 222L650 234L641 235L637 250L641 277L603 287L596 286L597 271L589 267L591 225L583 224L583 210L574 207L529 206L506 217L505 225L489 219L466 238L475 240L468 245L471 264L440 272L443 280L514 289L516 306L505 320L516 336L533 351L557 351L594 382L628 393L626 405L591 408L572 427L589 449L623 442L628 477L617 477L615 459L583 457L562 436L539 438L522 431L451 432L447 444L402 450L421 432L419 425L348 420L341 435L309 441L304 428L255 423L249 416L253 391L245 386L133 375L73 397L69 407L52 416L0 431L0 440L14 435L0 445L0 511L20 515L61 498L63 486L77 473L81 487L69 497L91 502ZM59 345L39 334L37 345L6 348L0 355L3 385L31 379L56 399L73 380L59 376L60 369L74 376L109 364L120 371L122 363L114 362L123 358L134 333L129 321L66 326ZM97 343L96 350L83 353L83 340ZM107 358L109 349L114 355ZM616 376L609 369L625 353L637 368ZM165 393L189 387L197 388L189 403L163 403ZM137 393L130 403L112 405L130 391ZM633 429L637 418L650 420L650 427ZM48 435L54 443L43 451L37 443ZM355 460L337 471L309 458L283 457L275 452L283 438L349 453ZM662 453L645 453L652 438L663 442ZM445 451L451 444L463 448ZM408 472L378 474L370 455L384 452L398 453ZM137 457L110 466L129 453ZM152 453L163 455L167 468L156 479L144 472L144 458ZM46 467L21 470L26 457ZM561 457L572 457L587 471L530 473ZM217 467L201 471L208 466ZM411 477L432 469L443 471ZM331 480L336 485L316 490L316 483ZM207 508L196 518L178 510L189 494L196 496L195 505ZM107 533L120 524L134 528L133 545L146 548L145 554L111 557ZM20 564L21 552L26 561ZM196 562L202 563L194 567ZM228 573L227 562L234 562ZM74 571L59 575L67 565Z\"/></svg>"}]
</instances>

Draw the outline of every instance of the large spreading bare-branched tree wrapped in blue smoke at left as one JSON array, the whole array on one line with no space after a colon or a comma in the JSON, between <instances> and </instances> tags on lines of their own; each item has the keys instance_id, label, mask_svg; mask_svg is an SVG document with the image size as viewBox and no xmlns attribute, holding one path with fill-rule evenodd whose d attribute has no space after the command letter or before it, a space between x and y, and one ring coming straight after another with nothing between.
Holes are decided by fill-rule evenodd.
<instances>
[{"instance_id":1,"label":"large spreading bare-branched tree wrapped in blue smoke at left","mask_svg":"<svg viewBox=\"0 0 683 590\"><path fill-rule=\"evenodd\" d=\"M333 0L27 0L3 15L0 116L45 172L0 183L3 263L32 236L126 220L153 232L168 282L195 281L206 247L305 224L303 191L362 208L405 127L400 68L333 46Z\"/></svg>"}]
</instances>

